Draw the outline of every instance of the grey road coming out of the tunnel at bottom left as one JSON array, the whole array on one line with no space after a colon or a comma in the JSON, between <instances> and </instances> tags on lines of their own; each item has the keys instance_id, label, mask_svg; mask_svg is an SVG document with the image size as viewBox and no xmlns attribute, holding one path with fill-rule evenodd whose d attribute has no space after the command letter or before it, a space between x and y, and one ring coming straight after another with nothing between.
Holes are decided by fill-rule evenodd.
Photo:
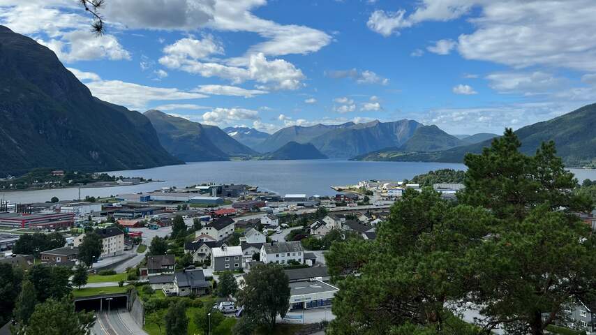
<instances>
[{"instance_id":1,"label":"grey road coming out of the tunnel at bottom left","mask_svg":"<svg viewBox=\"0 0 596 335\"><path fill-rule=\"evenodd\" d=\"M91 332L95 335L147 335L126 309L100 311Z\"/></svg>"}]
</instances>

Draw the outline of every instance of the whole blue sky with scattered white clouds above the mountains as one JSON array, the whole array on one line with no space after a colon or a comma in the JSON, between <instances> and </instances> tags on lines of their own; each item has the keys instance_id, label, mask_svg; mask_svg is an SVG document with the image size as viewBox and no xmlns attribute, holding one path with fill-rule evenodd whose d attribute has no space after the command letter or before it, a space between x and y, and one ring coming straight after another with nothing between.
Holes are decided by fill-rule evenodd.
<instances>
[{"instance_id":1,"label":"whole blue sky with scattered white clouds above the mountains","mask_svg":"<svg viewBox=\"0 0 596 335\"><path fill-rule=\"evenodd\" d=\"M502 133L596 101L593 0L0 0L91 93L221 127Z\"/></svg>"}]
</instances>

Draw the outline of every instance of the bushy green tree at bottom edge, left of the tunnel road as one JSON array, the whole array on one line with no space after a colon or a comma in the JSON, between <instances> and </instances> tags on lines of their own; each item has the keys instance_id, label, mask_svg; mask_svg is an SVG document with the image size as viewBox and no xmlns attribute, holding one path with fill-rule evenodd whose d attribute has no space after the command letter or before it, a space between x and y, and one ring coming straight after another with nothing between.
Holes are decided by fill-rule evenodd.
<instances>
[{"instance_id":1,"label":"bushy green tree at bottom edge, left of the tunnel road","mask_svg":"<svg viewBox=\"0 0 596 335\"><path fill-rule=\"evenodd\" d=\"M68 299L48 299L35 307L24 333L27 335L87 335L94 323L94 313L75 312L75 306Z\"/></svg>"}]
</instances>

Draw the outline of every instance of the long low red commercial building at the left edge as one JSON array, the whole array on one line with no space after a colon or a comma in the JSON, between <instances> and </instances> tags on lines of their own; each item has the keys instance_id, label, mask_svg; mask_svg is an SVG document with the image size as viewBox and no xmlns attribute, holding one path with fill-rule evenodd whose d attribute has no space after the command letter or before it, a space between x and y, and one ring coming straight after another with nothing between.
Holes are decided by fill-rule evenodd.
<instances>
[{"instance_id":1,"label":"long low red commercial building at the left edge","mask_svg":"<svg viewBox=\"0 0 596 335\"><path fill-rule=\"evenodd\" d=\"M64 229L74 223L74 215L70 213L52 214L0 214L0 227L32 228L32 229Z\"/></svg>"}]
</instances>

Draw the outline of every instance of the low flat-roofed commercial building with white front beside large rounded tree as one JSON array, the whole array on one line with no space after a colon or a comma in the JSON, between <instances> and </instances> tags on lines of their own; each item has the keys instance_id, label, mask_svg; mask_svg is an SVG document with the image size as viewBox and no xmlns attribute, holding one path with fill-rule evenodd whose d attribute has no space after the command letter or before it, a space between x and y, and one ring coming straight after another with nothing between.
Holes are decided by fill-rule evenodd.
<instances>
[{"instance_id":1,"label":"low flat-roofed commercial building with white front beside large rounded tree","mask_svg":"<svg viewBox=\"0 0 596 335\"><path fill-rule=\"evenodd\" d=\"M330 306L339 289L319 280L290 283L290 310Z\"/></svg>"}]
</instances>

